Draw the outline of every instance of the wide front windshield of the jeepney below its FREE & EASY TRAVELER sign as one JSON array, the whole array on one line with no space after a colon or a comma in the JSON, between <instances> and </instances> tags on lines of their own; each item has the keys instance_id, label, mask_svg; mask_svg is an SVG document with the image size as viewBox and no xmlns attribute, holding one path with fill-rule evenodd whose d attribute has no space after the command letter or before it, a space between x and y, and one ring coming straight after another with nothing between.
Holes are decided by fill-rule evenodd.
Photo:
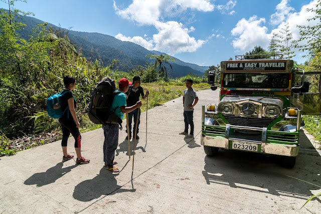
<instances>
[{"instance_id":1,"label":"wide front windshield of the jeepney below its FREE & EASY TRAVELER sign","mask_svg":"<svg viewBox=\"0 0 321 214\"><path fill-rule=\"evenodd\" d=\"M288 88L289 74L224 73L223 87L227 88Z\"/></svg>"}]
</instances>

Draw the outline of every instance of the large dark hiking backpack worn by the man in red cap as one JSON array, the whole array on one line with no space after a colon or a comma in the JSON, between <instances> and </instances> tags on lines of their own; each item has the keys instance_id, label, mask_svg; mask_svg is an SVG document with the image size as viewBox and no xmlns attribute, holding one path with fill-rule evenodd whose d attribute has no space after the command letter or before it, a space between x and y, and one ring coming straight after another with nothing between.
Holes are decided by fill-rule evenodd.
<instances>
[{"instance_id":1,"label":"large dark hiking backpack worn by the man in red cap","mask_svg":"<svg viewBox=\"0 0 321 214\"><path fill-rule=\"evenodd\" d=\"M116 85L113 79L102 78L91 93L88 107L88 117L95 124L108 122L117 122L121 124L122 120L113 112L110 107L114 96L121 91L115 92Z\"/></svg>"}]
</instances>

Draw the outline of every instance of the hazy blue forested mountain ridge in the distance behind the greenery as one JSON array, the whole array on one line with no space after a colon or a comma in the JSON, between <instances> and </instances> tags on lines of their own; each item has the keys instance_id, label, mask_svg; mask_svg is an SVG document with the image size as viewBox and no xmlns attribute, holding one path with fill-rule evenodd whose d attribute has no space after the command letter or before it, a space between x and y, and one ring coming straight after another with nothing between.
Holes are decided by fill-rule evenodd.
<instances>
[{"instance_id":1,"label":"hazy blue forested mountain ridge in the distance behind the greenery","mask_svg":"<svg viewBox=\"0 0 321 214\"><path fill-rule=\"evenodd\" d=\"M36 25L44 23L44 21L33 17L16 17L19 18L19 22L26 24L24 30L19 32L21 37L26 40L29 39L29 35L32 34L32 29ZM60 27L48 23L48 27L49 26L53 27L53 29L61 29ZM81 50L82 56L87 59L92 61L100 59L103 62L103 66L109 65L114 59L119 60L119 63L115 67L118 71L130 72L139 65L145 66L146 63L154 63L154 59L145 57L148 54L165 54L158 51L149 51L135 43L124 42L115 37L100 33L77 32L66 29L65 32L68 32L67 36L70 42L76 47L76 50L78 52ZM172 78L182 77L189 73L202 76L209 68L208 66L199 66L183 62L177 58L175 59L175 62L170 62L173 67L173 72L169 66L167 69L168 76Z\"/></svg>"}]
</instances>

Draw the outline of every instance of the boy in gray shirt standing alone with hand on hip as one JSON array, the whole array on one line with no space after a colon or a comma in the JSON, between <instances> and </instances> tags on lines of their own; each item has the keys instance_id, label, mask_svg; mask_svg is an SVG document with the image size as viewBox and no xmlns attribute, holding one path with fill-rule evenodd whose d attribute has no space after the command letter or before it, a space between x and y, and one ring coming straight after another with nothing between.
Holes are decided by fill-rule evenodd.
<instances>
[{"instance_id":1,"label":"boy in gray shirt standing alone with hand on hip","mask_svg":"<svg viewBox=\"0 0 321 214\"><path fill-rule=\"evenodd\" d=\"M193 85L193 80L190 78L187 79L186 80L186 88L187 89L185 89L184 96L183 96L185 129L183 132L180 133L182 135L187 135L185 138L194 138L193 112L194 112L194 106L199 101L199 98L198 98L195 90L192 88L192 85ZM189 124L191 126L190 134L188 132L189 131Z\"/></svg>"}]
</instances>

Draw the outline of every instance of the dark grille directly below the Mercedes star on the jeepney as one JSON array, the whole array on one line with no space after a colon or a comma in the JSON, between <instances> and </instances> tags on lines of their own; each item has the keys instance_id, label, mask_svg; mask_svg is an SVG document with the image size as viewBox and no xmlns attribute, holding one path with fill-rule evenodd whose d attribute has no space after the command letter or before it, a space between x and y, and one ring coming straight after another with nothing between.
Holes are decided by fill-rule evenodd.
<instances>
[{"instance_id":1,"label":"dark grille directly below the Mercedes star on the jeepney","mask_svg":"<svg viewBox=\"0 0 321 214\"><path fill-rule=\"evenodd\" d=\"M267 127L273 122L274 118L253 118L253 117L235 117L224 116L231 124L236 126Z\"/></svg>"}]
</instances>

